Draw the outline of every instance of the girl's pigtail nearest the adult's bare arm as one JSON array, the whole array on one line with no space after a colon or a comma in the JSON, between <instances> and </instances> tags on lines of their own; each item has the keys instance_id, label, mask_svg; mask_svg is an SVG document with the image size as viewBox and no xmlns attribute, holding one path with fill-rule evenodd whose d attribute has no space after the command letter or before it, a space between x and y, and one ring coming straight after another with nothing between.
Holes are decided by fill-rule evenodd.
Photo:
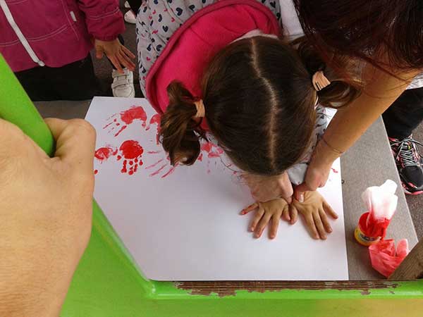
<instances>
[{"instance_id":1,"label":"girl's pigtail nearest the adult's bare arm","mask_svg":"<svg viewBox=\"0 0 423 317\"><path fill-rule=\"evenodd\" d=\"M298 45L298 55L310 74L310 85L312 85L312 75L319 70L324 71L325 77L331 82L331 85L317 92L319 104L330 108L341 108L360 96L362 82L359 79L360 76L354 74L359 70L357 65L348 62L347 58L337 58L337 61L342 64L339 68L343 70L343 73L335 73L331 68L326 67L322 58L305 37L297 39L291 44Z\"/></svg>"}]
</instances>

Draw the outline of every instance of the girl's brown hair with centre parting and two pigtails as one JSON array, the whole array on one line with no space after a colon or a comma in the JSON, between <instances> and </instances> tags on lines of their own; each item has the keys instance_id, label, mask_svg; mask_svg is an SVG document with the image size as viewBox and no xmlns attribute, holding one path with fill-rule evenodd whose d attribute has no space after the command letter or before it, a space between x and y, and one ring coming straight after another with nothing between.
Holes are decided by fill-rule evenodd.
<instances>
[{"instance_id":1,"label":"girl's brown hair with centre parting and two pigtails","mask_svg":"<svg viewBox=\"0 0 423 317\"><path fill-rule=\"evenodd\" d=\"M312 75L324 70L329 87L316 92ZM279 175L309 146L321 104L348 104L358 91L334 77L310 46L294 49L280 39L252 37L226 46L202 77L202 99L210 131L232 161L247 173ZM192 164L204 131L193 119L195 100L180 82L168 86L161 142L172 163ZM182 159L183 158L183 159Z\"/></svg>"}]
</instances>

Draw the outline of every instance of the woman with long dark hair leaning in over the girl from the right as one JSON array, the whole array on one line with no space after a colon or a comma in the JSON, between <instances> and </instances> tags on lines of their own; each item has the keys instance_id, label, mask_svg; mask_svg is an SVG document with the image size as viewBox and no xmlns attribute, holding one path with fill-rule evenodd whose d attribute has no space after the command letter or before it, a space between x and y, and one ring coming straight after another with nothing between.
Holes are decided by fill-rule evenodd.
<instances>
[{"instance_id":1,"label":"woman with long dark hair leaning in over the girl from the right","mask_svg":"<svg viewBox=\"0 0 423 317\"><path fill-rule=\"evenodd\" d=\"M365 82L362 95L331 120L314 149L304 183L295 188L295 197L301 201L304 192L323 187L333 161L382 114L405 192L423 193L423 170L416 149L419 143L411 136L423 120L423 1L280 0L280 3L288 32L304 30L331 68L337 68L338 58L345 56L362 63ZM292 192L291 185L283 180L250 187L261 201Z\"/></svg>"}]
</instances>

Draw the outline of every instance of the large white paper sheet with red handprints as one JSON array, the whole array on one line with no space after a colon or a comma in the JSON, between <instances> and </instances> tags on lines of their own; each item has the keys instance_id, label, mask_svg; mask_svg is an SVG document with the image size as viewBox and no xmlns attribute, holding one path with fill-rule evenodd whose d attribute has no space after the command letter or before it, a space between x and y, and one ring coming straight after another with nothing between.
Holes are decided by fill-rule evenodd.
<instances>
[{"instance_id":1,"label":"large white paper sheet with red handprints","mask_svg":"<svg viewBox=\"0 0 423 317\"><path fill-rule=\"evenodd\" d=\"M145 99L105 97L94 98L87 113L97 149L109 148L97 152L94 197L147 278L348 280L339 161L320 190L339 215L326 241L312 240L302 219L281 220L275 240L267 232L257 240L247 232L252 213L239 215L252 203L249 190L224 154L203 149L202 161L173 170L157 144L157 124L150 124L154 114ZM139 147L126 154L131 159L122 157L128 140L142 146L140 157L133 158Z\"/></svg>"}]
</instances>

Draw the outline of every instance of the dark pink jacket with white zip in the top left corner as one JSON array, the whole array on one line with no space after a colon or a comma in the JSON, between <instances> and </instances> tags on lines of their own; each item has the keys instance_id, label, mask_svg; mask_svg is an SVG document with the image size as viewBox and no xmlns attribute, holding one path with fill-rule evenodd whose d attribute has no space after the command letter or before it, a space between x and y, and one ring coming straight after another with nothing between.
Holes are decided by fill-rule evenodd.
<instances>
[{"instance_id":1,"label":"dark pink jacket with white zip in the top left corner","mask_svg":"<svg viewBox=\"0 0 423 317\"><path fill-rule=\"evenodd\" d=\"M87 56L125 30L118 0L0 0L0 53L17 72Z\"/></svg>"}]
</instances>

